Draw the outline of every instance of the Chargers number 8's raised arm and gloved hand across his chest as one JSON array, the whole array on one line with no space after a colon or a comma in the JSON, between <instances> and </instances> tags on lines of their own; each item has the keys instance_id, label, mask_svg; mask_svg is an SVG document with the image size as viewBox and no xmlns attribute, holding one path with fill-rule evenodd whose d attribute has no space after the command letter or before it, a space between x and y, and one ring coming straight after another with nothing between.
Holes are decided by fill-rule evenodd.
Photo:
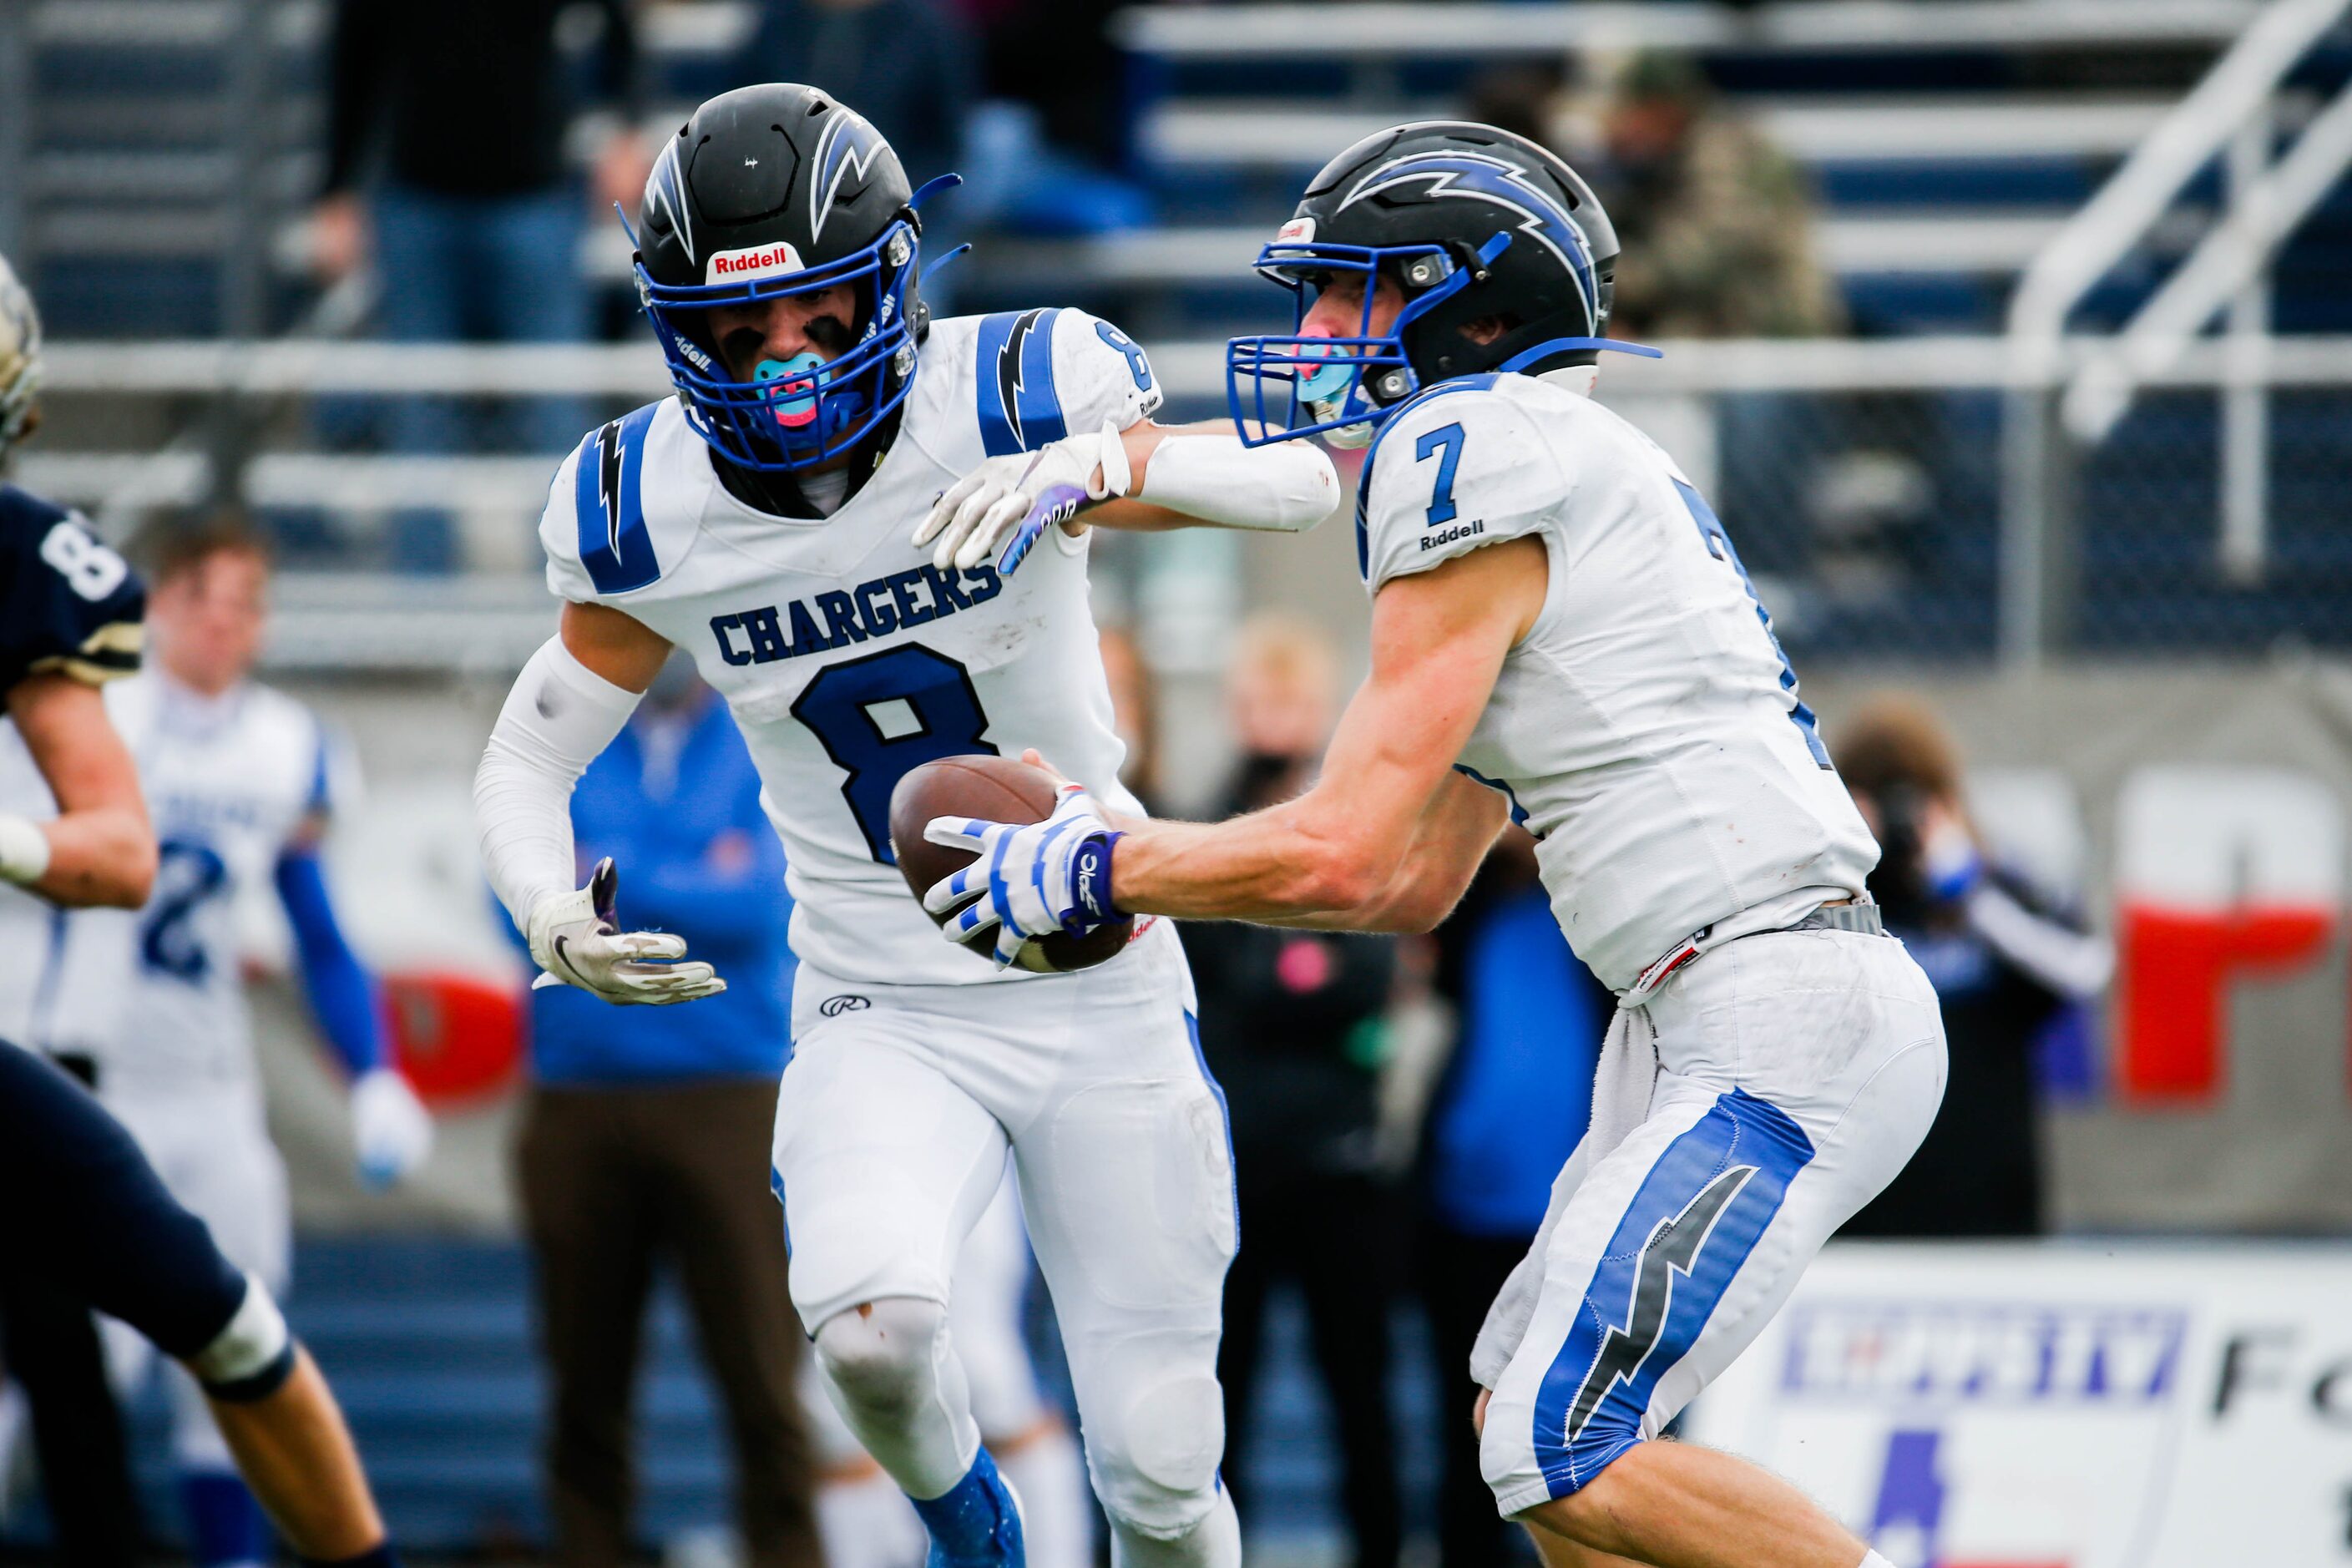
<instances>
[{"instance_id":1,"label":"Chargers number 8's raised arm and gloved hand across his chest","mask_svg":"<svg viewBox=\"0 0 2352 1568\"><path fill-rule=\"evenodd\" d=\"M938 496L915 543L941 571L983 559L1011 571L1054 524L1298 534L1336 508L1338 473L1312 442L1244 447L1230 421L1138 418L983 461Z\"/></svg>"}]
</instances>

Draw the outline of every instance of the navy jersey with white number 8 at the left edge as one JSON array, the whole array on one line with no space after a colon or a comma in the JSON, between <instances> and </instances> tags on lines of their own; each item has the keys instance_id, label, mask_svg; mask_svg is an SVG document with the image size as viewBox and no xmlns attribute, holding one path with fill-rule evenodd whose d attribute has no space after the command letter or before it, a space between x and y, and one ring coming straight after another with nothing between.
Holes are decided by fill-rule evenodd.
<instances>
[{"instance_id":1,"label":"navy jersey with white number 8 at the left edge","mask_svg":"<svg viewBox=\"0 0 2352 1568\"><path fill-rule=\"evenodd\" d=\"M0 484L0 693L26 675L129 675L143 614L139 578L80 517Z\"/></svg>"}]
</instances>

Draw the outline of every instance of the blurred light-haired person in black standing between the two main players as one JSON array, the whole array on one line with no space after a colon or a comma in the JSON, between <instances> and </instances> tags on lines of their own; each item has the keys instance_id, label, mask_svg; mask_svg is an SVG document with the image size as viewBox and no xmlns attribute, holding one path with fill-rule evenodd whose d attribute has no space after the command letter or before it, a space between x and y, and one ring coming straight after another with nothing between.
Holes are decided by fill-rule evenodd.
<instances>
[{"instance_id":1,"label":"blurred light-haired person in black standing between the two main players","mask_svg":"<svg viewBox=\"0 0 2352 1568\"><path fill-rule=\"evenodd\" d=\"M1305 623L1254 621L1225 691L1242 755L1211 816L1303 792L1338 715L1329 639ZM1225 1483L1247 1516L1249 1396L1265 1302L1275 1284L1294 1279L1338 1427L1352 1561L1392 1568L1402 1519L1388 1312L1399 1248L1376 1128L1395 940L1202 922L1183 926L1183 943L1200 987L1202 1051L1232 1117L1242 1206L1216 1366L1225 1385Z\"/></svg>"}]
</instances>

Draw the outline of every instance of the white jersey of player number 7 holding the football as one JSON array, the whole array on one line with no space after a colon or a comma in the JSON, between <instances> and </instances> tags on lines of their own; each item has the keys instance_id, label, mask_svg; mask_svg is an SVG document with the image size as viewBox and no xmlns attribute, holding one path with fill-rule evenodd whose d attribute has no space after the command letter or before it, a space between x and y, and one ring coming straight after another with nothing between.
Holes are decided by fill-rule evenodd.
<instances>
[{"instance_id":1,"label":"white jersey of player number 7 holding the football","mask_svg":"<svg viewBox=\"0 0 2352 1568\"><path fill-rule=\"evenodd\" d=\"M1665 451L1517 374L1442 381L1381 425L1357 498L1367 590L1519 536L1543 541L1550 590L1456 766L1536 835L1576 957L1628 990L1703 926L1860 893L1877 844Z\"/></svg>"}]
</instances>

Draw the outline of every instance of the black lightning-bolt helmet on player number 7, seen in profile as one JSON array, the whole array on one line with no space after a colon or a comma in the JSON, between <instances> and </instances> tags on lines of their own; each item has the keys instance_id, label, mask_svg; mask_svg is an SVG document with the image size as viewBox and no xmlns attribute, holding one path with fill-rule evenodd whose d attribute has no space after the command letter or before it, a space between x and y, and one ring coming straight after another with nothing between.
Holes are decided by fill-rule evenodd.
<instances>
[{"instance_id":1,"label":"black lightning-bolt helmet on player number 7, seen in profile","mask_svg":"<svg viewBox=\"0 0 2352 1568\"><path fill-rule=\"evenodd\" d=\"M1362 444L1437 381L1590 364L1604 348L1656 355L1606 336L1616 256L1616 228L1592 188L1524 136L1468 120L1367 136L1324 165L1258 252L1258 273L1291 289L1296 313L1289 336L1225 348L1242 440ZM1310 289L1334 273L1364 273L1359 334L1298 336ZM1404 289L1385 334L1371 331L1376 273ZM1463 336L1482 317L1505 322L1491 343Z\"/></svg>"}]
</instances>

